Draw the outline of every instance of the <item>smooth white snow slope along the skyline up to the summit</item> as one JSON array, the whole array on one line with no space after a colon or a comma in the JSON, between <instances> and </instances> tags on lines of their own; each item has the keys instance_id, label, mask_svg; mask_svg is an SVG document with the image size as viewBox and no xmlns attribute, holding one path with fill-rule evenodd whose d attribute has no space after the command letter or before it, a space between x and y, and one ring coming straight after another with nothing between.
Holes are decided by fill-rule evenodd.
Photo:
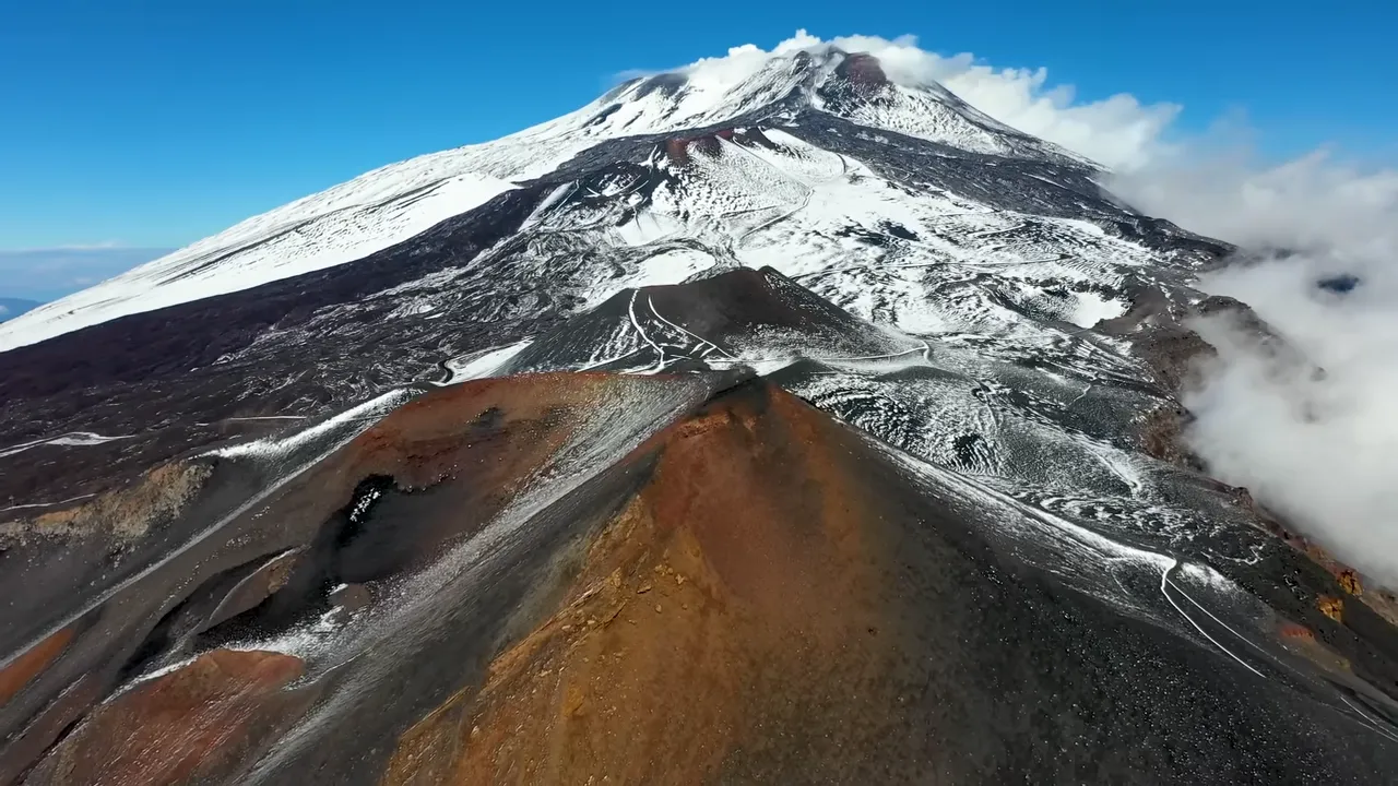
<instances>
[{"instance_id":1,"label":"smooth white snow slope along the skyline up to the summit","mask_svg":"<svg viewBox=\"0 0 1398 786\"><path fill-rule=\"evenodd\" d=\"M877 73L874 84L861 87L877 94L877 101L843 102L825 88L847 60L828 43L756 57L735 50L632 80L556 120L375 169L38 308L0 324L0 351L354 262L478 207L514 183L547 175L604 140L698 129L765 108L779 113L804 105L963 150L1081 161L995 123L938 84L893 84Z\"/></svg>"}]
</instances>

